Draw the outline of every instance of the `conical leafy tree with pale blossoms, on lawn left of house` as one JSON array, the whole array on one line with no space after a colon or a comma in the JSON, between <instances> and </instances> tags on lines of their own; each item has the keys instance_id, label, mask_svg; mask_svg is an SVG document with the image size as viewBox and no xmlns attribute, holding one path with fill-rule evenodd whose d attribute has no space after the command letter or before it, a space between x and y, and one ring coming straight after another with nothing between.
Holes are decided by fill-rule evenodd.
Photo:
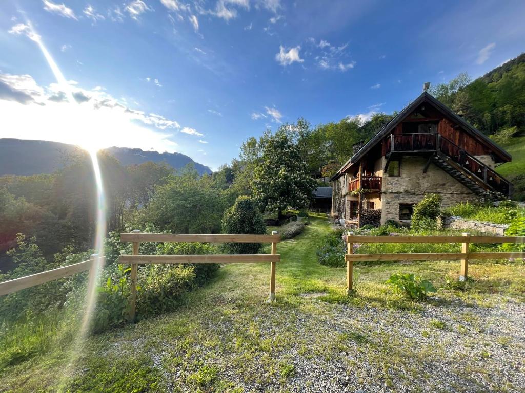
<instances>
[{"instance_id":1,"label":"conical leafy tree with pale blossoms, on lawn left of house","mask_svg":"<svg viewBox=\"0 0 525 393\"><path fill-rule=\"evenodd\" d=\"M251 188L261 208L277 210L280 219L288 206L301 209L308 205L316 182L309 176L297 146L281 133L264 146Z\"/></svg>"}]
</instances>

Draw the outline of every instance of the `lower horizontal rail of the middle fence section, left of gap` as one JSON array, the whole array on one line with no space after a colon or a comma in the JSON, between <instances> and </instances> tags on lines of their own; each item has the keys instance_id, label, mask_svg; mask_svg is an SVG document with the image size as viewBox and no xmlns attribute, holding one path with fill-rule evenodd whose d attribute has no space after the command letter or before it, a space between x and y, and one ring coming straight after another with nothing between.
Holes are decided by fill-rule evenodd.
<instances>
[{"instance_id":1,"label":"lower horizontal rail of the middle fence section, left of gap","mask_svg":"<svg viewBox=\"0 0 525 393\"><path fill-rule=\"evenodd\" d=\"M232 264L239 262L278 262L279 254L235 255L121 255L120 264Z\"/></svg>"}]
</instances>

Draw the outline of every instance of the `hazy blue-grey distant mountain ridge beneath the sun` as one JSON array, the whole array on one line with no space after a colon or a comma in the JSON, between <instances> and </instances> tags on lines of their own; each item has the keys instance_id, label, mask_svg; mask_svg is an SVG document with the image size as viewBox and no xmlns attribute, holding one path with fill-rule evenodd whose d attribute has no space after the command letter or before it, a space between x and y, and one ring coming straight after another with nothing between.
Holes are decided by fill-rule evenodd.
<instances>
[{"instance_id":1,"label":"hazy blue-grey distant mountain ridge beneath the sun","mask_svg":"<svg viewBox=\"0 0 525 393\"><path fill-rule=\"evenodd\" d=\"M0 138L0 176L53 173L64 167L68 155L78 150L74 145L47 140ZM125 147L110 147L105 150L124 166L153 161L165 162L177 170L193 163L199 174L212 173L208 167L181 153L159 153Z\"/></svg>"}]
</instances>

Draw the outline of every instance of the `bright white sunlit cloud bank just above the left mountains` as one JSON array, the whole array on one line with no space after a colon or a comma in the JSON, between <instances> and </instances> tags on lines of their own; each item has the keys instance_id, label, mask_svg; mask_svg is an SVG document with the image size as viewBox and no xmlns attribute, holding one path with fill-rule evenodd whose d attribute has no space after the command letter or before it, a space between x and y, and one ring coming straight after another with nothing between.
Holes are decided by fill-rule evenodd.
<instances>
[{"instance_id":1,"label":"bright white sunlit cloud bank just above the left mountains","mask_svg":"<svg viewBox=\"0 0 525 393\"><path fill-rule=\"evenodd\" d=\"M68 91L74 102L69 102ZM172 152L177 145L169 130L181 127L173 119L130 108L100 86L87 90L75 81L40 86L30 75L0 74L0 113L1 137L45 138L94 148Z\"/></svg>"}]
</instances>

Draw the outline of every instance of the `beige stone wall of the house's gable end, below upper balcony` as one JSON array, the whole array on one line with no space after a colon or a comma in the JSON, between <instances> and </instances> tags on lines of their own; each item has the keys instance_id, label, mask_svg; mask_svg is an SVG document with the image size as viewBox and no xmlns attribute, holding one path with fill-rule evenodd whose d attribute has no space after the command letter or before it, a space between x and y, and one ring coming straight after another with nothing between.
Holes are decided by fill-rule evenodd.
<instances>
[{"instance_id":1,"label":"beige stone wall of the house's gable end, below upper balcony","mask_svg":"<svg viewBox=\"0 0 525 393\"><path fill-rule=\"evenodd\" d=\"M433 163L423 173L426 161L425 157L403 156L400 176L389 177L388 172L383 173L382 224L387 220L400 221L400 203L417 203L426 193L441 195L444 208L476 200L476 194Z\"/></svg>"}]
</instances>

